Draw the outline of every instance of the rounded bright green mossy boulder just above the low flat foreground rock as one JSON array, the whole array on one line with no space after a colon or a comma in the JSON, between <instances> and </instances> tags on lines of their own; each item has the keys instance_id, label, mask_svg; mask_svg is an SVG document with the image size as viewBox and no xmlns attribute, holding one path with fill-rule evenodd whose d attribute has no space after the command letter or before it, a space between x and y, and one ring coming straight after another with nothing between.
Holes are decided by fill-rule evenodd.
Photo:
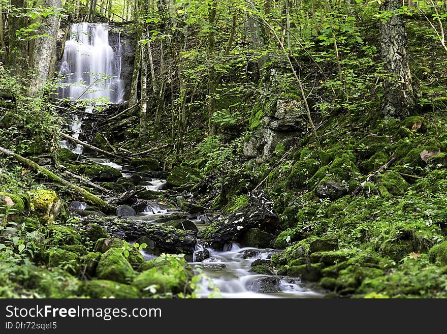
<instances>
[{"instance_id":1,"label":"rounded bright green mossy boulder just above the low flat foreground rock","mask_svg":"<svg viewBox=\"0 0 447 334\"><path fill-rule=\"evenodd\" d=\"M99 279L111 280L119 283L131 283L135 272L132 265L122 254L123 250L111 248L101 256L96 268Z\"/></svg>"}]
</instances>

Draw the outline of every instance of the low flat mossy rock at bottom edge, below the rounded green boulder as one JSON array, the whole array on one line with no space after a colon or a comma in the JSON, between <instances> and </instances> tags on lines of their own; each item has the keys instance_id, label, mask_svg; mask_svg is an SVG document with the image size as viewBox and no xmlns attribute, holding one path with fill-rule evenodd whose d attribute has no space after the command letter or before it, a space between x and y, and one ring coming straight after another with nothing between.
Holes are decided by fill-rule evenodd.
<instances>
[{"instance_id":1,"label":"low flat mossy rock at bottom edge, below the rounded green boulder","mask_svg":"<svg viewBox=\"0 0 447 334\"><path fill-rule=\"evenodd\" d=\"M90 298L138 298L137 288L108 280L84 281L79 294Z\"/></svg>"}]
</instances>

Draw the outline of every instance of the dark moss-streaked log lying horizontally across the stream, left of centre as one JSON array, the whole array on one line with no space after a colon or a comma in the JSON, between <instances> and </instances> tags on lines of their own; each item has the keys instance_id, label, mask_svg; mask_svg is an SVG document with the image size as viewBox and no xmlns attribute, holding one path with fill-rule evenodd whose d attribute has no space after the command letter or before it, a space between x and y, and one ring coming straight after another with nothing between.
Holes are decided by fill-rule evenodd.
<instances>
[{"instance_id":1,"label":"dark moss-streaked log lying horizontally across the stream, left of centre","mask_svg":"<svg viewBox=\"0 0 447 334\"><path fill-rule=\"evenodd\" d=\"M197 238L193 231L180 230L174 227L155 225L146 221L134 221L117 217L85 217L84 224L98 223L116 238L136 241L140 237L149 238L153 244L148 247L155 255L161 253L187 254L194 253Z\"/></svg>"}]
</instances>

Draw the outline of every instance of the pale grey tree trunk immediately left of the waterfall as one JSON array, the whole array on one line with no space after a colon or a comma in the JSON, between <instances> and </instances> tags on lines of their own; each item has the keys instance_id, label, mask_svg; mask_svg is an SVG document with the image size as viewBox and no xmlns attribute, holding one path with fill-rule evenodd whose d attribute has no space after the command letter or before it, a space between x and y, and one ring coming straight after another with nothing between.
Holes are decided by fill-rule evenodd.
<instances>
[{"instance_id":1,"label":"pale grey tree trunk immediately left of the waterfall","mask_svg":"<svg viewBox=\"0 0 447 334\"><path fill-rule=\"evenodd\" d=\"M62 7L60 0L44 0L44 7L60 8ZM58 13L58 10L56 10ZM42 96L43 92L39 90L45 85L49 77L52 76L53 70L51 70L51 57L55 53L55 36L57 34L57 27L59 23L59 17L57 14L48 15L47 17L39 20L39 35L34 39L33 52L29 59L30 69L34 71L30 79L30 93L36 96L39 94ZM44 35L51 36L51 38Z\"/></svg>"}]
</instances>

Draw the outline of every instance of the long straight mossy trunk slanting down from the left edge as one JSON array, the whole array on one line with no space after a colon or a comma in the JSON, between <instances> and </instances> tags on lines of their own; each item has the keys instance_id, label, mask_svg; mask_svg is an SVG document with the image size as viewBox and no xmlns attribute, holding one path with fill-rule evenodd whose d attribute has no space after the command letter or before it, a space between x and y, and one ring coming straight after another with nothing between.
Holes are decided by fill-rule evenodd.
<instances>
[{"instance_id":1,"label":"long straight mossy trunk slanting down from the left edge","mask_svg":"<svg viewBox=\"0 0 447 334\"><path fill-rule=\"evenodd\" d=\"M106 214L109 214L109 213L112 213L112 212L115 211L115 208L112 205L106 203L105 201L103 201L98 196L90 194L85 189L83 189L81 187L78 187L78 186L72 184L71 182L69 182L69 181L67 181L67 180L57 176L52 171L50 171L50 170L48 170L48 169L46 169L46 168L36 164L34 161L31 161L29 159L23 158L22 156L14 153L13 151L11 151L11 150L9 150L7 148L3 148L1 146L0 146L0 152L3 153L6 156L13 157L20 164L22 164L22 165L24 165L24 166L26 166L26 167L28 167L30 169L33 169L35 171L41 172L46 177L48 177L48 179L50 179L51 181L73 190L75 193L77 193L78 195L82 196L83 200L85 202L88 202L88 203L90 203L92 205L98 206L98 208L101 211L105 212Z\"/></svg>"}]
</instances>

